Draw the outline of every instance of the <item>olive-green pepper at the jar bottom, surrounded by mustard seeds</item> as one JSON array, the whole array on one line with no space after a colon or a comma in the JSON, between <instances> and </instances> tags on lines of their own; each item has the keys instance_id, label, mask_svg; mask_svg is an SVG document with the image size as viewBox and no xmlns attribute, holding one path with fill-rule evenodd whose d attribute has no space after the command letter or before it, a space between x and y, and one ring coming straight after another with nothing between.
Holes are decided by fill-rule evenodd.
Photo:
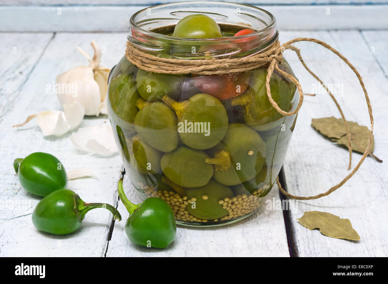
<instances>
[{"instance_id":1,"label":"olive-green pepper at the jar bottom, surrounded by mustard seeds","mask_svg":"<svg viewBox=\"0 0 388 284\"><path fill-rule=\"evenodd\" d=\"M228 211L222 208L220 200L233 198L232 189L211 179L208 184L199 188L188 188L187 198L192 201L186 206L189 214L206 220L220 219L228 215Z\"/></svg>"}]
</instances>

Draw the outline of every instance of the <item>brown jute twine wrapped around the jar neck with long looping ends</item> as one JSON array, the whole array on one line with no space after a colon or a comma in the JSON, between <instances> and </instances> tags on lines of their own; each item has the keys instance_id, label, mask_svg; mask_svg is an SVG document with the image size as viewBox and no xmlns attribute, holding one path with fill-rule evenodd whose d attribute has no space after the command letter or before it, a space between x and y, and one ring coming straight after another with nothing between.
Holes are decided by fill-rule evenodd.
<instances>
[{"instance_id":1,"label":"brown jute twine wrapped around the jar neck with long looping ends","mask_svg":"<svg viewBox=\"0 0 388 284\"><path fill-rule=\"evenodd\" d=\"M336 184L335 186L331 187L329 190L327 190L325 193L317 194L314 196L297 196L290 194L286 192L280 182L279 177L276 178L277 186L279 187L279 190L289 198L297 199L297 200L312 200L312 199L318 199L323 196L327 196L336 189L340 188L345 184L348 179L350 179L355 172L360 168L361 164L364 162L365 158L369 155L369 151L371 150L372 145L372 139L373 139L373 115L372 115L372 106L371 102L369 100L368 93L365 89L364 82L362 81L362 77L360 76L357 69L349 62L346 57L341 55L337 50L335 50L333 47L328 45L327 43L317 40L315 38L295 38L293 40L287 41L286 43L280 45L279 41L276 41L267 51L262 53L257 53L255 55L244 57L244 58L225 58L225 59L211 59L211 60L204 60L204 59L197 59L197 60L182 60L182 59L170 59L170 58L163 58L160 56L154 56L145 52L142 52L135 48L129 41L127 41L126 44L126 51L125 55L127 59L134 65L136 65L138 68L147 71L147 72L156 72L156 73L165 73L165 74L188 74L188 73L194 73L199 75L221 75L221 74L235 74L240 73L244 71L249 71L256 69L258 67L264 67L265 65L269 66L267 67L267 78L265 81L265 86L267 88L267 96L268 100L272 104L272 106L279 112L279 114L292 116L300 110L302 104L303 104L303 91L302 88L298 82L298 80L291 76L290 74L282 71L279 69L279 63L283 60L282 53L284 50L290 49L296 52L298 55L298 58L300 62L302 63L303 67L317 80L319 83L324 87L324 89L327 91L327 93L330 95L331 99L334 101L336 107L338 108L341 117L345 124L346 129L346 136L348 139L348 148L349 148L349 166L348 169L350 170L352 165L352 146L351 146L351 139L350 139L350 132L348 129L348 125L346 123L345 115L342 112L342 109L340 105L338 104L336 98L331 93L331 91L327 88L327 86L322 82L322 80L319 79L317 75L312 72L307 65L305 64L300 49L296 48L293 44L300 42L300 41L310 41L317 43L324 48L327 48L331 52L333 52L335 55L340 57L341 60L343 60L349 67L352 69L352 71L356 74L357 78L359 79L360 85L362 87L362 90L364 91L366 104L368 107L369 117L371 120L371 131L369 133L369 139L367 147L362 154L362 157L359 161L359 163L356 165L356 167L353 169L353 171L348 174L340 183ZM274 101L271 95L270 90L270 78L272 76L272 73L276 70L281 75L292 81L297 87L298 87L298 94L299 94L299 102L296 106L296 109L292 112L286 112L282 110L277 103Z\"/></svg>"}]
</instances>

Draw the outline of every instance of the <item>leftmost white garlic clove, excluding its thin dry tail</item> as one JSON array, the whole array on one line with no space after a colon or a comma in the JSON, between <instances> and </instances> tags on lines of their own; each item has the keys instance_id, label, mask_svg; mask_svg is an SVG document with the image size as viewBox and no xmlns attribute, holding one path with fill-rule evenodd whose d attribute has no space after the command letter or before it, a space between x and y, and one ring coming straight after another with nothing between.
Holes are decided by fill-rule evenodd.
<instances>
[{"instance_id":1,"label":"leftmost white garlic clove, excluding its thin dry tail","mask_svg":"<svg viewBox=\"0 0 388 284\"><path fill-rule=\"evenodd\" d=\"M70 129L64 112L59 110L40 112L36 115L36 123L42 130L43 136L62 135Z\"/></svg>"}]
</instances>

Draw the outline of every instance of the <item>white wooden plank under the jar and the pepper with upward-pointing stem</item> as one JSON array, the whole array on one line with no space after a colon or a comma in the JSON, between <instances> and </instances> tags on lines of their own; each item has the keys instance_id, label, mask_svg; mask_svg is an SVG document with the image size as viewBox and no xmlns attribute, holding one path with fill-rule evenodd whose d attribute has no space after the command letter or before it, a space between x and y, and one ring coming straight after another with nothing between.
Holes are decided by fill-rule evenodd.
<instances>
[{"instance_id":1,"label":"white wooden plank under the jar and the pepper with upward-pointing stem","mask_svg":"<svg viewBox=\"0 0 388 284\"><path fill-rule=\"evenodd\" d=\"M123 185L128 199L140 203L127 175ZM272 199L279 200L276 186L268 194L267 200ZM213 228L179 225L175 241L165 250L132 244L124 231L128 213L121 201L118 210L124 220L115 222L106 256L289 256L283 213L266 210L266 203L258 212L235 224Z\"/></svg>"}]
</instances>

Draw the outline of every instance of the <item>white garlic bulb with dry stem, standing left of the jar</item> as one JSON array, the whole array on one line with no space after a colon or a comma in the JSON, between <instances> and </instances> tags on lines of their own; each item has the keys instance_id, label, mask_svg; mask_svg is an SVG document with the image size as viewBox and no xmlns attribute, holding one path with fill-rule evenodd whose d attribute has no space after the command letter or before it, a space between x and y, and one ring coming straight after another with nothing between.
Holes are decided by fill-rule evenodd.
<instances>
[{"instance_id":1,"label":"white garlic bulb with dry stem, standing left of the jar","mask_svg":"<svg viewBox=\"0 0 388 284\"><path fill-rule=\"evenodd\" d=\"M80 47L78 51L89 60L89 66L77 66L57 76L57 84L62 86L57 97L62 105L79 102L85 108L85 115L106 114L106 93L110 69L100 66L101 50L93 40L90 45L94 56ZM104 106L105 105L105 106Z\"/></svg>"}]
</instances>

